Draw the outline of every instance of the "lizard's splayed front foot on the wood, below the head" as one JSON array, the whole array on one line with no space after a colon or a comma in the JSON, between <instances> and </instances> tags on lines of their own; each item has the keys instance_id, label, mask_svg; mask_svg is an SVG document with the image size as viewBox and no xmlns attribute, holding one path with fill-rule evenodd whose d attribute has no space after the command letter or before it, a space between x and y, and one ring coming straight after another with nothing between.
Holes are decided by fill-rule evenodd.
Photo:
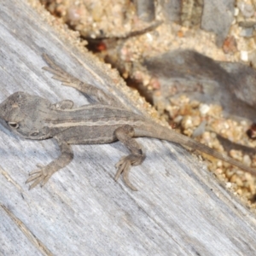
<instances>
[{"instance_id":1,"label":"lizard's splayed front foot on the wood, below the head","mask_svg":"<svg viewBox=\"0 0 256 256\"><path fill-rule=\"evenodd\" d=\"M54 172L51 172L51 170L49 170L49 167L47 166L42 166L40 164L38 164L37 166L40 169L30 172L29 176L31 177L29 177L26 180L26 183L30 183L33 181L33 183L29 186L29 190L36 187L38 183L40 183L42 188L44 184L48 182L49 177L51 177L52 174L54 173Z\"/></svg>"}]
</instances>

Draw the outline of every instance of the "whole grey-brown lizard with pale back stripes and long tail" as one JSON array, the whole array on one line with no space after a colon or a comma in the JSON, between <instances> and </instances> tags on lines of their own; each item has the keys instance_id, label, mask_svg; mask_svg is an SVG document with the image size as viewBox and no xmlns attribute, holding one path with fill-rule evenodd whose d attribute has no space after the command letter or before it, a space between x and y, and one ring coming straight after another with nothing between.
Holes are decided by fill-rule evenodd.
<instances>
[{"instance_id":1,"label":"whole grey-brown lizard with pale back stripes and long tail","mask_svg":"<svg viewBox=\"0 0 256 256\"><path fill-rule=\"evenodd\" d=\"M122 157L116 164L117 172L114 179L117 181L122 175L126 185L132 190L137 190L130 182L129 172L131 166L142 164L146 155L141 145L137 143L136 137L153 137L181 144L256 175L253 168L243 165L228 155L160 125L142 114L133 113L113 96L67 73L48 55L44 54L43 57L48 64L43 69L53 73L53 79L97 98L98 103L73 108L73 102L69 100L53 104L41 96L18 91L0 104L0 118L6 122L10 131L32 140L53 138L61 150L61 155L57 159L46 166L38 166L37 170L30 172L30 177L26 180L26 183L30 183L29 189L38 184L43 187L49 177L73 160L72 144L119 141L130 150L131 154Z\"/></svg>"}]
</instances>

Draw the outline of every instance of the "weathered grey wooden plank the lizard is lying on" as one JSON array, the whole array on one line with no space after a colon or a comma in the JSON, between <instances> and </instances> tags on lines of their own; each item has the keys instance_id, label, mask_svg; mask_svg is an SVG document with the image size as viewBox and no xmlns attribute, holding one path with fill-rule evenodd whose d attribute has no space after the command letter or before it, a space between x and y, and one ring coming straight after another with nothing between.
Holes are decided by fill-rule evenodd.
<instances>
[{"instance_id":1,"label":"weathered grey wooden plank the lizard is lying on","mask_svg":"<svg viewBox=\"0 0 256 256\"><path fill-rule=\"evenodd\" d=\"M1 3L0 42L0 102L23 90L52 102L87 103L41 69L45 52L132 108L108 69L62 40L25 0ZM43 189L28 191L28 173L55 159L58 148L1 125L0 254L255 255L255 215L195 156L172 143L138 141L148 157L131 172L137 192L113 181L114 164L127 154L120 143L73 146L73 162Z\"/></svg>"}]
</instances>

